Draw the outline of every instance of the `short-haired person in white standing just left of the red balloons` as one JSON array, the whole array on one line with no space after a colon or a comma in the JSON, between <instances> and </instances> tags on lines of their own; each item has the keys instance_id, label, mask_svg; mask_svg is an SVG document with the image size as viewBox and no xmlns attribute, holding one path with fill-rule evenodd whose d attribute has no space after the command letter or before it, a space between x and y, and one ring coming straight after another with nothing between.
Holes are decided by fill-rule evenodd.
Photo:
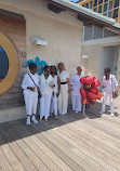
<instances>
[{"instance_id":1,"label":"short-haired person in white standing just left of the red balloons","mask_svg":"<svg viewBox=\"0 0 120 171\"><path fill-rule=\"evenodd\" d=\"M81 75L81 71L82 71L82 68L77 67L77 74L72 76L71 82L70 82L72 110L76 113L81 111L81 107L82 107L81 93L80 93L82 83L80 82L80 79L83 77L83 75Z\"/></svg>"}]
</instances>

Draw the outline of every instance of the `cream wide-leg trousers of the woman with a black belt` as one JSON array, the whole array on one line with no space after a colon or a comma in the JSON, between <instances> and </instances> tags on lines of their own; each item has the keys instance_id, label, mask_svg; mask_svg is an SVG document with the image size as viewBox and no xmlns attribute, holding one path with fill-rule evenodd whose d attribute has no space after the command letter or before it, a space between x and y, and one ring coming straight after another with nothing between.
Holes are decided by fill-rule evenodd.
<instances>
[{"instance_id":1,"label":"cream wide-leg trousers of the woman with a black belt","mask_svg":"<svg viewBox=\"0 0 120 171\"><path fill-rule=\"evenodd\" d=\"M58 114L67 114L68 106L68 84L61 84L61 93L58 96Z\"/></svg>"}]
</instances>

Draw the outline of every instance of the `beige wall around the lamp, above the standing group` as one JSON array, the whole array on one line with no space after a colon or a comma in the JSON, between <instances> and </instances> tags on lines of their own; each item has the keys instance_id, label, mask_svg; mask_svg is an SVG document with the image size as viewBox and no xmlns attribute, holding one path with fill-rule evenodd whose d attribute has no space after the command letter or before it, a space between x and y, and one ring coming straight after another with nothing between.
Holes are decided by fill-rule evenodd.
<instances>
[{"instance_id":1,"label":"beige wall around the lamp, above the standing group","mask_svg":"<svg viewBox=\"0 0 120 171\"><path fill-rule=\"evenodd\" d=\"M38 22L39 21L39 22ZM49 65L64 62L70 76L80 65L81 29L45 16L29 14L26 16L27 57L40 56ZM40 36L48 40L48 47L31 43L31 36Z\"/></svg>"}]
</instances>

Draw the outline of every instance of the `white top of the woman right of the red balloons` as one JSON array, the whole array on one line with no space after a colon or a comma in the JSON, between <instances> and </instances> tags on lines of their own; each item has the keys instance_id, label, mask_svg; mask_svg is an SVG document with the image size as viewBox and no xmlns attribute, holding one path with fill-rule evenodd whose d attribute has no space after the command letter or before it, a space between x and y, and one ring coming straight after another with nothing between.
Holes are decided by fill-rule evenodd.
<instances>
[{"instance_id":1,"label":"white top of the woman right of the red balloons","mask_svg":"<svg viewBox=\"0 0 120 171\"><path fill-rule=\"evenodd\" d=\"M112 84L111 84L111 77L112 77ZM107 92L112 92L116 90L116 87L118 86L117 79L114 75L109 76L109 80L106 80L106 76L103 77L103 86L105 86L105 88L103 88L103 91L107 91Z\"/></svg>"}]
</instances>

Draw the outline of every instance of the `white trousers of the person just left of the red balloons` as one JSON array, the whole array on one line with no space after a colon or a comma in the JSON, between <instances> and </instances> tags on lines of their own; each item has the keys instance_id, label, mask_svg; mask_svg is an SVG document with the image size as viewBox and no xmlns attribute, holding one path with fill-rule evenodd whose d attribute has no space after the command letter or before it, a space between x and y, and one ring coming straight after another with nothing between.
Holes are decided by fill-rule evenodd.
<instances>
[{"instance_id":1,"label":"white trousers of the person just left of the red balloons","mask_svg":"<svg viewBox=\"0 0 120 171\"><path fill-rule=\"evenodd\" d=\"M81 95L72 95L71 94L71 102L72 102L72 110L81 111Z\"/></svg>"}]
</instances>

